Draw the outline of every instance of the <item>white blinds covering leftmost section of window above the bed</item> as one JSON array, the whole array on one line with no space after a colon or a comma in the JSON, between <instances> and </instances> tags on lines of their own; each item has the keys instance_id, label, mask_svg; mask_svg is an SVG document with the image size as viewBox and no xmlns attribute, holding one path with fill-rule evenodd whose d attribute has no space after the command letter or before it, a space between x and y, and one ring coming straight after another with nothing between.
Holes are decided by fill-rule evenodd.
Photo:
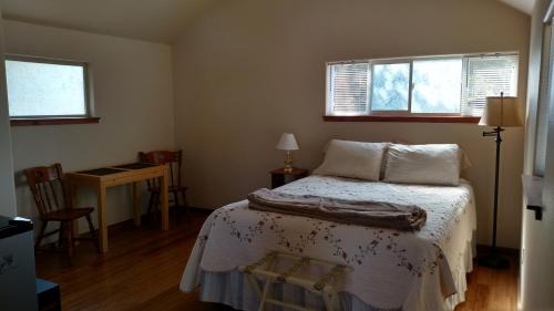
<instances>
[{"instance_id":1,"label":"white blinds covering leftmost section of window above the bed","mask_svg":"<svg viewBox=\"0 0 554 311\"><path fill-rule=\"evenodd\" d=\"M331 64L328 66L328 106L330 115L368 113L369 63Z\"/></svg>"}]
</instances>

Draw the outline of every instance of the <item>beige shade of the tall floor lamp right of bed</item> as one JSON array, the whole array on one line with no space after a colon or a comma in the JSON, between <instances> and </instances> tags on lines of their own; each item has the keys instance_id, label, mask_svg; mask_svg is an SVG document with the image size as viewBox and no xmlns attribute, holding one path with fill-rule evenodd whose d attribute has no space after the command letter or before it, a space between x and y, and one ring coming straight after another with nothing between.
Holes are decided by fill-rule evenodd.
<instances>
[{"instance_id":1,"label":"beige shade of the tall floor lamp right of bed","mask_svg":"<svg viewBox=\"0 0 554 311\"><path fill-rule=\"evenodd\" d=\"M479 125L483 126L522 126L517 110L517 97L486 97Z\"/></svg>"}]
</instances>

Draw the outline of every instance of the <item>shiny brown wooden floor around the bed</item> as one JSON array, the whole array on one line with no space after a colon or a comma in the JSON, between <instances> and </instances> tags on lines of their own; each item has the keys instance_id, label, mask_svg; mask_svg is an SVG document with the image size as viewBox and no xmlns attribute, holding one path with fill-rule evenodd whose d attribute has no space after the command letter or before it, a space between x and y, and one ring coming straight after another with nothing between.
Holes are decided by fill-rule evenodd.
<instances>
[{"instance_id":1,"label":"shiny brown wooden floor around the bed","mask_svg":"<svg viewBox=\"0 0 554 311\"><path fill-rule=\"evenodd\" d=\"M197 293L178 291L178 283L205 211L172 211L171 230L145 219L110 228L110 251L96 255L88 241L76 247L73 266L63 255L37 252L37 274L60 284L62 308L72 310L233 310L199 302ZM475 267L468 276L468 300L455 311L516 310L517 265L509 270Z\"/></svg>"}]
</instances>

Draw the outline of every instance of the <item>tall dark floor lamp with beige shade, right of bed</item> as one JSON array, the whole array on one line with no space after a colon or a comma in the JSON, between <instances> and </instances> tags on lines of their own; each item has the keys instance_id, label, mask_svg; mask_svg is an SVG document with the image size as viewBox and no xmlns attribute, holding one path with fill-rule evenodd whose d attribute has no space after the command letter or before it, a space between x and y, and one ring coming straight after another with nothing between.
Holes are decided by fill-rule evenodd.
<instances>
[{"instance_id":1,"label":"tall dark floor lamp with beige shade, right of bed","mask_svg":"<svg viewBox=\"0 0 554 311\"><path fill-rule=\"evenodd\" d=\"M504 97L501 93L497 97L486 97L483 115L479 125L494 127L492 131L483 132L483 136L493 136L496 142L496 166L494 170L494 218L492 224L492 248L489 253L479 256L480 266L503 269L507 268L509 261L502 257L496 249L496 216L499 212L499 168L500 168L500 144L502 143L502 132L507 126L522 126L520 113L517 111L516 97Z\"/></svg>"}]
</instances>

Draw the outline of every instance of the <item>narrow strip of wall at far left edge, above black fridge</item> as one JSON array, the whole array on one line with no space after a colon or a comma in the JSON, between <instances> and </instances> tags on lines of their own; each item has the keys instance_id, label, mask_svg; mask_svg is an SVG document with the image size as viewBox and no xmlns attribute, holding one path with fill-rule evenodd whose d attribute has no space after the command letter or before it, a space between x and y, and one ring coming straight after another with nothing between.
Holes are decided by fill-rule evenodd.
<instances>
[{"instance_id":1,"label":"narrow strip of wall at far left edge, above black fridge","mask_svg":"<svg viewBox=\"0 0 554 311\"><path fill-rule=\"evenodd\" d=\"M6 95L3 21L1 15L0 11L0 215L13 217L18 212L11 158L10 117Z\"/></svg>"}]
</instances>

